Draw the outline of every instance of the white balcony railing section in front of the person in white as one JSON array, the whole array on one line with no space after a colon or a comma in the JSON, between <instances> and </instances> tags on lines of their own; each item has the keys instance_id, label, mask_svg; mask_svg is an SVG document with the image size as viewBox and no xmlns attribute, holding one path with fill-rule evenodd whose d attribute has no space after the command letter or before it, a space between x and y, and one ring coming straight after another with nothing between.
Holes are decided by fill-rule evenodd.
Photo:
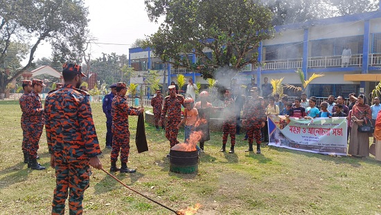
<instances>
[{"instance_id":1,"label":"white balcony railing section in front of the person in white","mask_svg":"<svg viewBox=\"0 0 381 215\"><path fill-rule=\"evenodd\" d=\"M348 66L361 66L362 54L352 55ZM342 56L308 57L308 68L327 68L342 66Z\"/></svg>"}]
</instances>

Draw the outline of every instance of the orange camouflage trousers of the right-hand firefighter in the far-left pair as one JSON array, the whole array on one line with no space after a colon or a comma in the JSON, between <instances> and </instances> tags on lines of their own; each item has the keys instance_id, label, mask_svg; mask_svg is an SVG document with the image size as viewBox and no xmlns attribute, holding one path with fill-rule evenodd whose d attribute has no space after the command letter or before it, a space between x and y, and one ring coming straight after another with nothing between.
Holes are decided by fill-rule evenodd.
<instances>
[{"instance_id":1,"label":"orange camouflage trousers of the right-hand firefighter in the far-left pair","mask_svg":"<svg viewBox=\"0 0 381 215\"><path fill-rule=\"evenodd\" d=\"M42 129L44 129L43 123L28 124L26 136L28 138L29 158L37 158L38 142L42 135Z\"/></svg>"}]
</instances>

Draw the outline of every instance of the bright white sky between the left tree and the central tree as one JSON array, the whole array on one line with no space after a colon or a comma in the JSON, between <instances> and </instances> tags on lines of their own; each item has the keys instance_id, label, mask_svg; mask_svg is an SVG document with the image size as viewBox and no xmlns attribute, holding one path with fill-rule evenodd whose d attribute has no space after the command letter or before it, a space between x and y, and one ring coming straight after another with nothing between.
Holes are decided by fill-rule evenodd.
<instances>
[{"instance_id":1,"label":"bright white sky between the left tree and the central tree","mask_svg":"<svg viewBox=\"0 0 381 215\"><path fill-rule=\"evenodd\" d=\"M102 53L125 54L136 39L144 39L159 28L151 23L145 11L144 0L85 0L89 7L89 30L98 43L128 44L105 45L91 44L91 59L101 57ZM48 42L39 44L35 59L51 58L51 46Z\"/></svg>"}]
</instances>

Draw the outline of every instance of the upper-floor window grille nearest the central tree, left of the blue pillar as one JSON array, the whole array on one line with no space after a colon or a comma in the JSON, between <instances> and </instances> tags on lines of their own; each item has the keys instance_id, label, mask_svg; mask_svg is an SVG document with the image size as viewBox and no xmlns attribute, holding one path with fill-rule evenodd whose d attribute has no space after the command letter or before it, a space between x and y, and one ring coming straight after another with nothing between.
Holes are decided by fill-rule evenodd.
<instances>
[{"instance_id":1,"label":"upper-floor window grille nearest the central tree, left of the blue pillar","mask_svg":"<svg viewBox=\"0 0 381 215\"><path fill-rule=\"evenodd\" d=\"M277 44L272 46L264 46L265 59L295 59L303 57L303 43Z\"/></svg>"}]
</instances>

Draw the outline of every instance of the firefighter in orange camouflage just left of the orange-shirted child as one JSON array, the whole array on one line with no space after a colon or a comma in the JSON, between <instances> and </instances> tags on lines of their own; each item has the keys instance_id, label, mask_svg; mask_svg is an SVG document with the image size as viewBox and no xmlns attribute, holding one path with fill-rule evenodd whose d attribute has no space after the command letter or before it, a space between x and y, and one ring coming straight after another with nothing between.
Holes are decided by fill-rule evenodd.
<instances>
[{"instance_id":1,"label":"firefighter in orange camouflage just left of the orange-shirted child","mask_svg":"<svg viewBox=\"0 0 381 215\"><path fill-rule=\"evenodd\" d=\"M181 104L184 104L184 97L176 94L176 87L174 85L168 86L169 95L164 99L163 111L161 111L161 119L159 124L163 125L164 118L168 113L168 120L166 122L166 138L170 142L172 148L175 144L178 144L177 124L181 122Z\"/></svg>"}]
</instances>

